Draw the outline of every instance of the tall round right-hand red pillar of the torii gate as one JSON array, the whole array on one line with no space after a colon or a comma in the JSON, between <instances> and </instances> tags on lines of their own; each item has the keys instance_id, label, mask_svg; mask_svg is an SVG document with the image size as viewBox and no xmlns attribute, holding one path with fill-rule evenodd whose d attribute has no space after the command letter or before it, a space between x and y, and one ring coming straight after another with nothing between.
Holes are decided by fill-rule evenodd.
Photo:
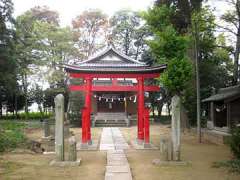
<instances>
[{"instance_id":1,"label":"tall round right-hand red pillar of the torii gate","mask_svg":"<svg viewBox=\"0 0 240 180\"><path fill-rule=\"evenodd\" d=\"M144 78L138 78L138 142L144 140Z\"/></svg>"}]
</instances>

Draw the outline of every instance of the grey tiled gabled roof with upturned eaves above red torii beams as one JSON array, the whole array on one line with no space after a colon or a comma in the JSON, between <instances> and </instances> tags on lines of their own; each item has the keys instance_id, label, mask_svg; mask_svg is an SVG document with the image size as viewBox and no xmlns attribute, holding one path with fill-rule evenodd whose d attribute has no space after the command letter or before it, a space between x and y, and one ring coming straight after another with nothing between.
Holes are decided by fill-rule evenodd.
<instances>
[{"instance_id":1,"label":"grey tiled gabled roof with upturned eaves above red torii beams","mask_svg":"<svg viewBox=\"0 0 240 180\"><path fill-rule=\"evenodd\" d=\"M109 47L88 60L65 64L70 73L161 73L166 65L149 66Z\"/></svg>"}]
</instances>

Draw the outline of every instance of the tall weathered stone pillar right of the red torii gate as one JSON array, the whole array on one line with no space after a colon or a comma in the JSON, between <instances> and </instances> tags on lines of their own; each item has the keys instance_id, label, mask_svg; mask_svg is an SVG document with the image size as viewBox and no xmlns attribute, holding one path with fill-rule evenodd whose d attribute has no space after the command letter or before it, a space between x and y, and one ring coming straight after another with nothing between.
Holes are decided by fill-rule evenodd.
<instances>
[{"instance_id":1,"label":"tall weathered stone pillar right of the red torii gate","mask_svg":"<svg viewBox=\"0 0 240 180\"><path fill-rule=\"evenodd\" d=\"M180 117L181 117L181 100L175 95L172 97L172 148L173 160L180 161Z\"/></svg>"}]
</instances>

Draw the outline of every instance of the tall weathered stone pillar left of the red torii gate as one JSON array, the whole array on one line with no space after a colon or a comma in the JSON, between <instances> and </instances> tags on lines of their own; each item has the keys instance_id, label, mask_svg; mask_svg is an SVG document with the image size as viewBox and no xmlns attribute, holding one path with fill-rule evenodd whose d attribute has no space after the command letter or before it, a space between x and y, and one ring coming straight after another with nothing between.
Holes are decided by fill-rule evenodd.
<instances>
[{"instance_id":1,"label":"tall weathered stone pillar left of the red torii gate","mask_svg":"<svg viewBox=\"0 0 240 180\"><path fill-rule=\"evenodd\" d=\"M64 161L64 96L58 94L55 99L55 152L57 161Z\"/></svg>"}]
</instances>

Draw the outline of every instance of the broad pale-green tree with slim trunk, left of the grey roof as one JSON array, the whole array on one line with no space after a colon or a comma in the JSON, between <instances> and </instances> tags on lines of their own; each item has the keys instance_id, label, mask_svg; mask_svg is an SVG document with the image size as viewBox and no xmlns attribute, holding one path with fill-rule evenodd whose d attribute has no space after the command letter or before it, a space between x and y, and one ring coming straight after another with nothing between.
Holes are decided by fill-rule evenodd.
<instances>
[{"instance_id":1,"label":"broad pale-green tree with slim trunk, left of the grey roof","mask_svg":"<svg viewBox=\"0 0 240 180\"><path fill-rule=\"evenodd\" d=\"M75 57L76 48L71 29L59 27L58 14L47 7L35 7L17 17L16 37L19 74L28 112L28 77L38 79L38 83L45 80L46 84L47 80L49 84L64 87L64 72L59 65Z\"/></svg>"}]
</instances>

